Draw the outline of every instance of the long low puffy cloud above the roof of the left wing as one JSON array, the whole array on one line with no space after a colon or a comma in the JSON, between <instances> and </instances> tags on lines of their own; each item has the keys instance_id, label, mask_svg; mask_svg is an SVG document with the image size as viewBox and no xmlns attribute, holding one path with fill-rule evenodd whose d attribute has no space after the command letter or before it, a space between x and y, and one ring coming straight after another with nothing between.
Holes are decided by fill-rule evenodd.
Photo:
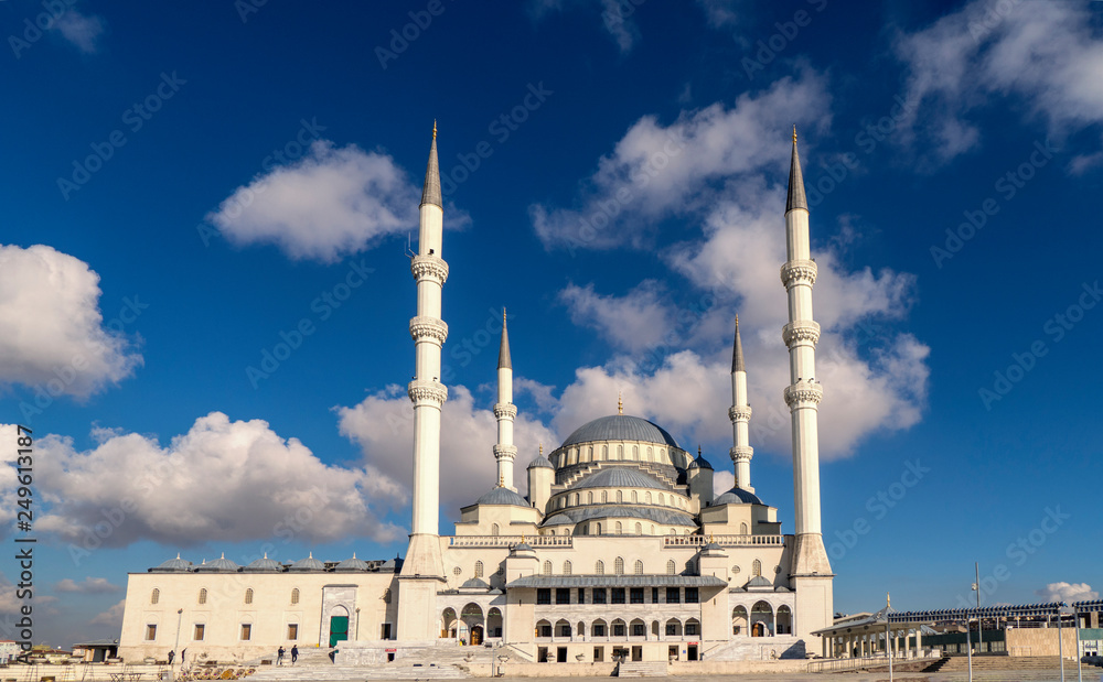
<instances>
[{"instance_id":1,"label":"long low puffy cloud above the roof of the left wing","mask_svg":"<svg viewBox=\"0 0 1103 682\"><path fill-rule=\"evenodd\" d=\"M400 490L366 469L322 463L260 420L212 412L168 446L136 433L100 437L89 451L67 437L36 441L47 511L35 529L71 543L71 554L139 540L179 546L405 534L368 507L401 502Z\"/></svg>"}]
</instances>

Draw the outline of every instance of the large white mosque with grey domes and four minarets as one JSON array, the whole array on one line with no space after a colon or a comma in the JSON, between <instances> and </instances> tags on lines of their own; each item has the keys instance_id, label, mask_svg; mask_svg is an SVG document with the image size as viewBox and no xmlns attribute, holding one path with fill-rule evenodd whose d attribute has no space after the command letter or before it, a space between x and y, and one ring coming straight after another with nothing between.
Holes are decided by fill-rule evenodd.
<instances>
[{"instance_id":1,"label":"large white mosque with grey domes and four minarets","mask_svg":"<svg viewBox=\"0 0 1103 682\"><path fill-rule=\"evenodd\" d=\"M735 487L715 496L713 465L667 431L618 409L575 430L527 467L515 487L513 365L503 324L497 362L496 484L461 508L454 533L438 529L440 382L448 326L441 292L443 208L432 144L411 259L415 346L414 505L401 560L267 556L170 559L129 575L119 656L246 660L279 647L338 647L371 664L427 647L495 645L528 661L764 660L818 652L833 624L832 574L820 523L814 379L820 325L812 315L816 263L793 134L785 208L789 294L782 338L790 354L784 400L792 415L795 528L751 486L747 364L735 323L730 408ZM490 445L490 444L488 444ZM488 481L491 483L491 481Z\"/></svg>"}]
</instances>

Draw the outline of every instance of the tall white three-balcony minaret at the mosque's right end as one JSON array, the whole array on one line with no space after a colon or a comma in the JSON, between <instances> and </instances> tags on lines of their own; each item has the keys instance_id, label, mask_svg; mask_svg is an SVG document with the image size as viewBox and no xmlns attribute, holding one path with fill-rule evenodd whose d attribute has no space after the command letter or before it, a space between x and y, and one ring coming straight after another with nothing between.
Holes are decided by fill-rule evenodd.
<instances>
[{"instance_id":1,"label":"tall white three-balcony minaret at the mosque's right end","mask_svg":"<svg viewBox=\"0 0 1103 682\"><path fill-rule=\"evenodd\" d=\"M789 346L790 386L785 403L793 422L793 498L796 517L795 546L790 580L797 593L797 636L833 620L832 572L820 528L820 435L817 415L823 388L816 381L816 342L820 325L812 318L812 285L816 263L808 239L808 202L796 153L793 128L793 159L789 170L789 201L785 205L785 238L789 260L781 268L781 281L789 293L789 324L782 338Z\"/></svg>"}]
</instances>

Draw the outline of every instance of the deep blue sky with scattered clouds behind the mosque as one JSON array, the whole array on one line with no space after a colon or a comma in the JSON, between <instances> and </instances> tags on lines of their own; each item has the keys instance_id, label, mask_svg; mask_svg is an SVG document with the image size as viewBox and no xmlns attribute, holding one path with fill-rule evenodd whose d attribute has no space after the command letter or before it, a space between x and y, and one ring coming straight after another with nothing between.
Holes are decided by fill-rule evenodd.
<instances>
[{"instance_id":1,"label":"deep blue sky with scattered clouds behind the mosque","mask_svg":"<svg viewBox=\"0 0 1103 682\"><path fill-rule=\"evenodd\" d=\"M433 119L445 532L496 483L502 306L518 472L622 392L718 488L739 313L753 484L792 532L796 125L836 609L957 605L974 561L987 603L1097 591L1077 390L1103 3L7 0L0 25L0 404L36 439L36 640L117 635L126 573L178 551L405 550ZM6 628L17 606L3 585Z\"/></svg>"}]
</instances>

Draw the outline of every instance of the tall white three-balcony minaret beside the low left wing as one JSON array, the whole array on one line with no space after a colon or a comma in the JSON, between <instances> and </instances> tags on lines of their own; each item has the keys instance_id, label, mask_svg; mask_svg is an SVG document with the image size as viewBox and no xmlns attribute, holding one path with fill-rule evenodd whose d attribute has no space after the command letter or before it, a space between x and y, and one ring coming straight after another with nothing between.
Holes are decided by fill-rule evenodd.
<instances>
[{"instance_id":1,"label":"tall white three-balcony minaret beside the low left wing","mask_svg":"<svg viewBox=\"0 0 1103 682\"><path fill-rule=\"evenodd\" d=\"M448 325L440 318L440 297L448 263L441 258L443 207L437 163L437 123L421 190L418 253L410 261L417 281L417 317L410 320L415 371L409 383L414 402L414 522L399 576L398 639L431 640L439 631L435 614L437 588L445 580L440 556L440 408L448 389L440 382L440 349Z\"/></svg>"}]
</instances>

